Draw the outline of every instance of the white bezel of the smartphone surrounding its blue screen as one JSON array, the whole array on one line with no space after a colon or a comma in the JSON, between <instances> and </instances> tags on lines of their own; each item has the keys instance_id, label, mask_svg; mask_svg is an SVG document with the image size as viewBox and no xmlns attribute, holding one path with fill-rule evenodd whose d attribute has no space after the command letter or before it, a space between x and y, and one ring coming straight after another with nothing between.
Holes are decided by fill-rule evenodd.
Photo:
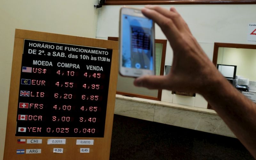
<instances>
[{"instance_id":1,"label":"white bezel of the smartphone surrounding its blue screen","mask_svg":"<svg viewBox=\"0 0 256 160\"><path fill-rule=\"evenodd\" d=\"M127 68L124 67L122 64L122 31L123 31L123 14L136 16L136 17L145 17L140 9L137 8L131 8L131 7L122 7L120 9L120 16L119 16L119 73L122 76L128 76L128 77L140 77L142 75L155 75L155 27L154 22L152 24L152 55L153 55L153 70L149 69L137 69L137 68Z\"/></svg>"}]
</instances>

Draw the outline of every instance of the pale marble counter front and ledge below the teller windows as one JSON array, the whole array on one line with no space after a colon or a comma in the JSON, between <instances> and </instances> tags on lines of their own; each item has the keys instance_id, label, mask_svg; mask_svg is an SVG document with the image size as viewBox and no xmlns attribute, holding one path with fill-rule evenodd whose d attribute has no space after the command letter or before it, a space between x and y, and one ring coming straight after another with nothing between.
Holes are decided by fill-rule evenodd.
<instances>
[{"instance_id":1,"label":"pale marble counter front and ledge below the teller windows","mask_svg":"<svg viewBox=\"0 0 256 160\"><path fill-rule=\"evenodd\" d=\"M212 109L116 94L115 114L236 137Z\"/></svg>"}]
</instances>

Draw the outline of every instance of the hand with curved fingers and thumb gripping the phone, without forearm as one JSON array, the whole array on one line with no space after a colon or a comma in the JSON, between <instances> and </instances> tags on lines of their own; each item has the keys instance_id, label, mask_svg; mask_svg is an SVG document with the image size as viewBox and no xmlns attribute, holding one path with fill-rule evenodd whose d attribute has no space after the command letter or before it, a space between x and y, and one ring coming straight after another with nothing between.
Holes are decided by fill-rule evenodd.
<instances>
[{"instance_id":1,"label":"hand with curved fingers and thumb gripping the phone, without forearm","mask_svg":"<svg viewBox=\"0 0 256 160\"><path fill-rule=\"evenodd\" d=\"M147 5L142 13L164 32L173 50L173 62L168 75L142 76L134 80L135 86L201 93L222 77L175 8Z\"/></svg>"}]
</instances>

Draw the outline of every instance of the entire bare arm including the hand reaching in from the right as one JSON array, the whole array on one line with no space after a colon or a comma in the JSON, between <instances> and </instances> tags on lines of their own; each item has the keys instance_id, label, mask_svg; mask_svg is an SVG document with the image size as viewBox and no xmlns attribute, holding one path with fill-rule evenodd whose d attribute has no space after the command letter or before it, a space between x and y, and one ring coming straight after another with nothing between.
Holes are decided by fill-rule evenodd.
<instances>
[{"instance_id":1,"label":"entire bare arm including the hand reaching in from the right","mask_svg":"<svg viewBox=\"0 0 256 160\"><path fill-rule=\"evenodd\" d=\"M134 85L202 94L256 158L256 105L219 73L174 8L147 5L142 13L153 19L169 40L173 63L170 74L140 77Z\"/></svg>"}]
</instances>

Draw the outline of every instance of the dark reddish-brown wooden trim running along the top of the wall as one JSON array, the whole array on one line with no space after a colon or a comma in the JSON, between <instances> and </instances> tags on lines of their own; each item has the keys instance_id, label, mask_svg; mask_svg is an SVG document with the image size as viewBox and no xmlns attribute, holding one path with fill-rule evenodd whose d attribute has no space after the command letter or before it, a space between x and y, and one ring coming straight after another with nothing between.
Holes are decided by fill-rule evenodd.
<instances>
[{"instance_id":1,"label":"dark reddish-brown wooden trim running along the top of the wall","mask_svg":"<svg viewBox=\"0 0 256 160\"><path fill-rule=\"evenodd\" d=\"M256 0L106 0L104 5L145 4L256 4Z\"/></svg>"}]
</instances>

